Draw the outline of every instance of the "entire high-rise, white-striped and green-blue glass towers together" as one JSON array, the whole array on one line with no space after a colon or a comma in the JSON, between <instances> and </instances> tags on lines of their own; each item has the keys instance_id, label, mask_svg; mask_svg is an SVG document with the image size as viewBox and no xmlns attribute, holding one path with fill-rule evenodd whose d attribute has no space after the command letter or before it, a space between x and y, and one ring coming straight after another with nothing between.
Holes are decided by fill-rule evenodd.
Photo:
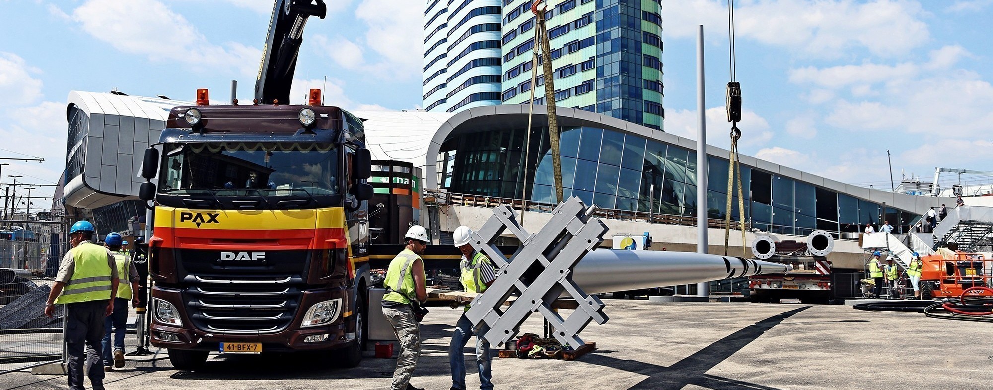
<instances>
[{"instance_id":1,"label":"entire high-rise, white-striped and green-blue glass towers together","mask_svg":"<svg viewBox=\"0 0 993 390\"><path fill-rule=\"evenodd\" d=\"M532 1L451 0L443 7L446 1L429 1L425 13L427 110L454 112L478 105L526 103L535 43ZM451 15L443 11L455 6L459 8ZM490 29L497 15L488 13L493 11L489 7L501 7L496 44L496 32ZM662 128L660 1L550 0L548 7L555 104ZM498 59L493 57L495 51ZM439 65L445 61L451 66ZM536 85L535 101L544 103L541 72ZM499 92L497 98L494 91Z\"/></svg>"}]
</instances>

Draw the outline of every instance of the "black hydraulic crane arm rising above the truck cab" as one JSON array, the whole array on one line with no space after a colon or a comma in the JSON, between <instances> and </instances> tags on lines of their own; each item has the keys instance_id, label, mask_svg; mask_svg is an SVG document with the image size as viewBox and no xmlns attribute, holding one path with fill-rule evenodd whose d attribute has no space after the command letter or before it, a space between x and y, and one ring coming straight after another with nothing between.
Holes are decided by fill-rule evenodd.
<instances>
[{"instance_id":1,"label":"black hydraulic crane arm rising above the truck cab","mask_svg":"<svg viewBox=\"0 0 993 390\"><path fill-rule=\"evenodd\" d=\"M290 87L293 86L300 45L304 42L307 18L324 19L327 14L324 0L276 0L262 48L262 64L255 79L255 98L259 103L290 102Z\"/></svg>"}]
</instances>

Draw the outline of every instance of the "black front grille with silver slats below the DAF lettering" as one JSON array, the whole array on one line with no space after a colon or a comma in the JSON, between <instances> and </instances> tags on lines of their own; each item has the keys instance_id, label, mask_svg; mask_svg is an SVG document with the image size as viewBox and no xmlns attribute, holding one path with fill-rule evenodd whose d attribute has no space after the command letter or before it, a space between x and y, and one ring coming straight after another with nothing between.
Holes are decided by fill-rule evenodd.
<instances>
[{"instance_id":1,"label":"black front grille with silver slats below the DAF lettering","mask_svg":"<svg viewBox=\"0 0 993 390\"><path fill-rule=\"evenodd\" d=\"M183 299L198 329L263 334L292 324L306 287L306 251L269 251L266 261L234 264L218 261L213 251L178 252Z\"/></svg>"}]
</instances>

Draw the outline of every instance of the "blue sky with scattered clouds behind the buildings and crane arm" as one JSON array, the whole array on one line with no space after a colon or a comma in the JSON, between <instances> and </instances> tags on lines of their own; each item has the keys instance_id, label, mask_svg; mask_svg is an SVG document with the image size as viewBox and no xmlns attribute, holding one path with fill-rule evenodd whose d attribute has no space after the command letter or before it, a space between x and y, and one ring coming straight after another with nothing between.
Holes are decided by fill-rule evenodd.
<instances>
[{"instance_id":1,"label":"blue sky with scattered clouds behind the buildings and crane arm","mask_svg":"<svg viewBox=\"0 0 993 390\"><path fill-rule=\"evenodd\" d=\"M557 0L551 0L556 3ZM726 147L723 0L663 0L666 131L695 137L695 31L705 26L708 141ZM847 183L893 170L993 170L993 0L736 2L741 150ZM423 1L333 0L312 18L294 97L352 109L421 105ZM70 91L250 99L270 0L0 0L0 157L55 182ZM327 77L327 86L325 78ZM18 154L24 153L24 154ZM38 190L46 192L48 189Z\"/></svg>"}]
</instances>

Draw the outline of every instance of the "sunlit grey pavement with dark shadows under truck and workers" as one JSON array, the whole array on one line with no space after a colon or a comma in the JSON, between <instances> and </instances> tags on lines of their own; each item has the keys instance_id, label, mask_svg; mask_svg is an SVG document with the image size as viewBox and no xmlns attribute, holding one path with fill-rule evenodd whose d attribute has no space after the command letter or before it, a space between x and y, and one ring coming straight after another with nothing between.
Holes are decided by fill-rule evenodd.
<instances>
[{"instance_id":1,"label":"sunlit grey pavement with dark shadows under truck and workers","mask_svg":"<svg viewBox=\"0 0 993 390\"><path fill-rule=\"evenodd\" d=\"M847 305L604 301L610 321L582 333L596 351L577 361L495 356L497 389L993 389L990 324ZM448 342L461 313L432 307L414 385L451 386ZM540 315L522 331L540 334ZM387 389L395 364L371 349L350 369L317 354L212 354L198 372L174 370L164 353L128 359L107 373L107 389ZM65 389L66 377L15 372L0 375L0 388Z\"/></svg>"}]
</instances>

